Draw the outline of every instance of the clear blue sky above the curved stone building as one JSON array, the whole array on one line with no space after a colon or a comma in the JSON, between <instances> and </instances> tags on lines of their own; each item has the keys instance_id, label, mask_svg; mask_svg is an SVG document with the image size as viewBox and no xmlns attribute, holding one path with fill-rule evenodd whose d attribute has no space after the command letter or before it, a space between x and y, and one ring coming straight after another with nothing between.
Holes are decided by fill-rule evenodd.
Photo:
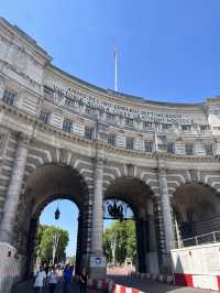
<instances>
[{"instance_id":1,"label":"clear blue sky above the curved stone building","mask_svg":"<svg viewBox=\"0 0 220 293\"><path fill-rule=\"evenodd\" d=\"M201 101L220 94L219 0L2 0L0 14L53 57L54 64L147 99Z\"/></svg>"}]
</instances>

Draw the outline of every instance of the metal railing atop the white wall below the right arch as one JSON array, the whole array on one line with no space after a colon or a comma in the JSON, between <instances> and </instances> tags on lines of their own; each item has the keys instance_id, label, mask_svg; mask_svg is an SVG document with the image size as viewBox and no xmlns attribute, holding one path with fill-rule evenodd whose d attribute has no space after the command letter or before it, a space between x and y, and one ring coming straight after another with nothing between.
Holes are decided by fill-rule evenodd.
<instances>
[{"instance_id":1,"label":"metal railing atop the white wall below the right arch","mask_svg":"<svg viewBox=\"0 0 220 293\"><path fill-rule=\"evenodd\" d=\"M220 231L198 235L178 241L178 248L220 242Z\"/></svg>"}]
</instances>

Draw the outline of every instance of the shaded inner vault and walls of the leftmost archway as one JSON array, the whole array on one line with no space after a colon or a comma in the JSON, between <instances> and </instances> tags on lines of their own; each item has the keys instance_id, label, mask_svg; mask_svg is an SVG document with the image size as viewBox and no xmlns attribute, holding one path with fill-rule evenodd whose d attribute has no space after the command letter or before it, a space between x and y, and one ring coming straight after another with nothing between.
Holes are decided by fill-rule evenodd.
<instances>
[{"instance_id":1,"label":"shaded inner vault and walls of the leftmost archway","mask_svg":"<svg viewBox=\"0 0 220 293\"><path fill-rule=\"evenodd\" d=\"M88 196L87 185L81 175L68 166L48 164L37 167L28 178L18 211L14 241L21 254L28 256L29 272L33 267L33 251L38 217L44 207L58 198L74 202L79 209L77 253L78 262L87 249L87 230L84 229L84 206Z\"/></svg>"}]
</instances>

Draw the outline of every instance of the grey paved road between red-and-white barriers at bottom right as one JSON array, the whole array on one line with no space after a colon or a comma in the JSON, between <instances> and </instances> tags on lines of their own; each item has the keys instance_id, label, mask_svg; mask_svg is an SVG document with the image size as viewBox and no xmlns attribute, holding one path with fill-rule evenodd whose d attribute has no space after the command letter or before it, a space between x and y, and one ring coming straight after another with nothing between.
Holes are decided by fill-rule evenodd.
<instances>
[{"instance_id":1,"label":"grey paved road between red-and-white barriers at bottom right","mask_svg":"<svg viewBox=\"0 0 220 293\"><path fill-rule=\"evenodd\" d=\"M109 275L118 284L128 285L136 287L146 293L210 293L217 291L202 290L202 289L194 289L194 287L183 287L163 284L158 282L153 282L148 280L141 280L140 278L131 278L127 275Z\"/></svg>"}]
</instances>

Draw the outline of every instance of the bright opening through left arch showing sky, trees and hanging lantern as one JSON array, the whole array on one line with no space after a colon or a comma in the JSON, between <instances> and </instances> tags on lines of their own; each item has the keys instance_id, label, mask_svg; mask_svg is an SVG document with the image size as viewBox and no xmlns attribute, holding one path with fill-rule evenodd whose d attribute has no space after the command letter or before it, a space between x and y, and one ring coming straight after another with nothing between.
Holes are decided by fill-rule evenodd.
<instances>
[{"instance_id":1,"label":"bright opening through left arch showing sky, trees and hanging lantern","mask_svg":"<svg viewBox=\"0 0 220 293\"><path fill-rule=\"evenodd\" d=\"M34 271L41 264L76 264L79 209L69 199L47 204L38 218L35 234Z\"/></svg>"}]
</instances>

